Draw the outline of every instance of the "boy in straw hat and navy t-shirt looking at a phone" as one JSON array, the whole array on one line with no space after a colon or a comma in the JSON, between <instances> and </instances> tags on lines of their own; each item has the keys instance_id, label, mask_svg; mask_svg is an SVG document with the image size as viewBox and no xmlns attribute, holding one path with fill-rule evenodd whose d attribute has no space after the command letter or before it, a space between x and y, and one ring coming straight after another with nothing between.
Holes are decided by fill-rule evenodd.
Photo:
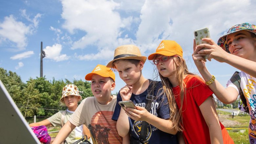
<instances>
[{"instance_id":1,"label":"boy in straw hat and navy t-shirt looking at a phone","mask_svg":"<svg viewBox=\"0 0 256 144\"><path fill-rule=\"evenodd\" d=\"M114 60L109 62L107 67L115 68L120 78L127 84L117 94L117 102L132 100L137 109L126 108L124 111L120 105L116 104L112 119L117 120L117 131L120 136L125 137L131 134L131 144L177 143L175 135L177 126L171 121L172 119L169 120L169 105L166 96L161 93L161 83L145 79L142 75L141 71L146 59L141 56L139 48L135 45L121 45L116 48ZM152 100L147 102L147 99ZM147 104L149 104L150 113L144 108ZM171 115L174 113L175 110ZM146 123L144 138L140 136L142 121L149 123Z\"/></svg>"}]
</instances>

